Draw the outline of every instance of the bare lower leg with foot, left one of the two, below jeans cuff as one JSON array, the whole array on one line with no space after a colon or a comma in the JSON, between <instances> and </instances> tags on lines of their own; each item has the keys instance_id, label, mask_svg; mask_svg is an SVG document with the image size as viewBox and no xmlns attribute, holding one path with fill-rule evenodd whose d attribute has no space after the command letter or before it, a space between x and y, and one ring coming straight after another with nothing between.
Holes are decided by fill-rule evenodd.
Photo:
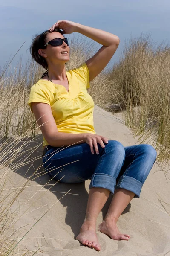
<instances>
[{"instance_id":1,"label":"bare lower leg with foot, left one of the two, below jeans cuff","mask_svg":"<svg viewBox=\"0 0 170 256\"><path fill-rule=\"evenodd\" d=\"M100 250L101 246L98 243L96 235L96 219L99 212L104 207L110 191L104 188L91 188L89 191L89 199L87 203L86 216L84 223L81 226L79 235L76 237L82 244L93 247L95 250Z\"/></svg>"}]
</instances>

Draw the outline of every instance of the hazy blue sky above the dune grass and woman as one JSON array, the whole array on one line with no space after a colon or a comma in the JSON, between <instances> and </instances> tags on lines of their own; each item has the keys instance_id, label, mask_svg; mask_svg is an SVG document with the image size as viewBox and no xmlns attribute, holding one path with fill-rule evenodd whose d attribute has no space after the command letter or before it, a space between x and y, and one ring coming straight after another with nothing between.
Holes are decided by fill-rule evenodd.
<instances>
[{"instance_id":1,"label":"hazy blue sky above the dune grass and woman","mask_svg":"<svg viewBox=\"0 0 170 256\"><path fill-rule=\"evenodd\" d=\"M164 41L170 44L169 0L6 0L0 2L0 68L12 59L25 41L12 61L12 69L21 57L23 63L31 58L32 37L58 20L74 21L117 35L120 44L107 67L119 61L125 40L128 42L130 37L150 33L153 43ZM65 36L71 39L73 34L86 38L87 42L92 41L79 33ZM101 44L95 44L101 47Z\"/></svg>"}]
</instances>

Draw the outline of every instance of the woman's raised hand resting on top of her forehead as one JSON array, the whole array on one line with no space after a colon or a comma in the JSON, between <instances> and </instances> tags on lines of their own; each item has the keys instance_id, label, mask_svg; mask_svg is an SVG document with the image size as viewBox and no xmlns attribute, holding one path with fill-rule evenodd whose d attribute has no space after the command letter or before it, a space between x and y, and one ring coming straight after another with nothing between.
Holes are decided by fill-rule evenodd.
<instances>
[{"instance_id":1,"label":"woman's raised hand resting on top of her forehead","mask_svg":"<svg viewBox=\"0 0 170 256\"><path fill-rule=\"evenodd\" d=\"M72 34L75 32L76 27L75 22L69 21L69 20L58 20L51 28L49 28L49 31L52 32L55 28L57 29L63 29L64 34Z\"/></svg>"}]
</instances>

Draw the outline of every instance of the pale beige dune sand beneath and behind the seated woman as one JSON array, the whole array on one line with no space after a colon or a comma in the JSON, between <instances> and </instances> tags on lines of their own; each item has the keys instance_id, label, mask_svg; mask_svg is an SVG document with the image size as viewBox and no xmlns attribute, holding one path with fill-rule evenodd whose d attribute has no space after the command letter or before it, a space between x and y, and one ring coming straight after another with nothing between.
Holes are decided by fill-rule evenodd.
<instances>
[{"instance_id":1,"label":"pale beige dune sand beneath and behind the seated woman","mask_svg":"<svg viewBox=\"0 0 170 256\"><path fill-rule=\"evenodd\" d=\"M109 140L118 140L124 146L139 144L130 129L124 125L122 113L113 115L95 105L94 127L97 134ZM41 134L40 141L42 142ZM151 144L151 141L148 144ZM32 142L29 148L34 146ZM8 171L10 177L6 186L22 186L38 167L38 172L42 172L44 168L41 166L41 155L40 145L32 155L39 156L39 159L31 166L29 163L17 172L6 167L1 169L1 173L4 170ZM166 256L170 256L170 180L167 181L164 172L158 170L161 168L156 161L144 183L140 198L133 198L118 219L118 228L122 233L131 236L129 241L112 240L97 231L101 244L100 252L81 245L75 237L84 220L90 180L81 184L55 184L55 181L50 181L47 174L30 182L12 205L13 212L17 209L15 218L23 216L14 226L11 225L14 230L20 228L11 239L17 236L22 238L25 235L18 245L18 250L30 251L31 255L37 251L35 256L163 256L166 253ZM43 186L46 183L48 186ZM111 199L112 196L109 196L99 214L97 227L104 218ZM47 210L49 211L46 213ZM41 216L43 217L40 219Z\"/></svg>"}]
</instances>

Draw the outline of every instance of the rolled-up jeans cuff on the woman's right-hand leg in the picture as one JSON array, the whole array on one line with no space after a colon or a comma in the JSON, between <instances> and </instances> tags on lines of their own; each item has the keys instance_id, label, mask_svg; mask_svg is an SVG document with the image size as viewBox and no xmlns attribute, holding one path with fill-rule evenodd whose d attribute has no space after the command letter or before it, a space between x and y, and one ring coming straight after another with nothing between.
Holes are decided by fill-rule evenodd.
<instances>
[{"instance_id":1,"label":"rolled-up jeans cuff on the woman's right-hand leg in the picture","mask_svg":"<svg viewBox=\"0 0 170 256\"><path fill-rule=\"evenodd\" d=\"M115 186L115 189L130 190L131 192L135 193L134 198L139 198L142 186L143 184L139 180L136 180L133 177L122 175L119 178L118 183Z\"/></svg>"}]
</instances>

